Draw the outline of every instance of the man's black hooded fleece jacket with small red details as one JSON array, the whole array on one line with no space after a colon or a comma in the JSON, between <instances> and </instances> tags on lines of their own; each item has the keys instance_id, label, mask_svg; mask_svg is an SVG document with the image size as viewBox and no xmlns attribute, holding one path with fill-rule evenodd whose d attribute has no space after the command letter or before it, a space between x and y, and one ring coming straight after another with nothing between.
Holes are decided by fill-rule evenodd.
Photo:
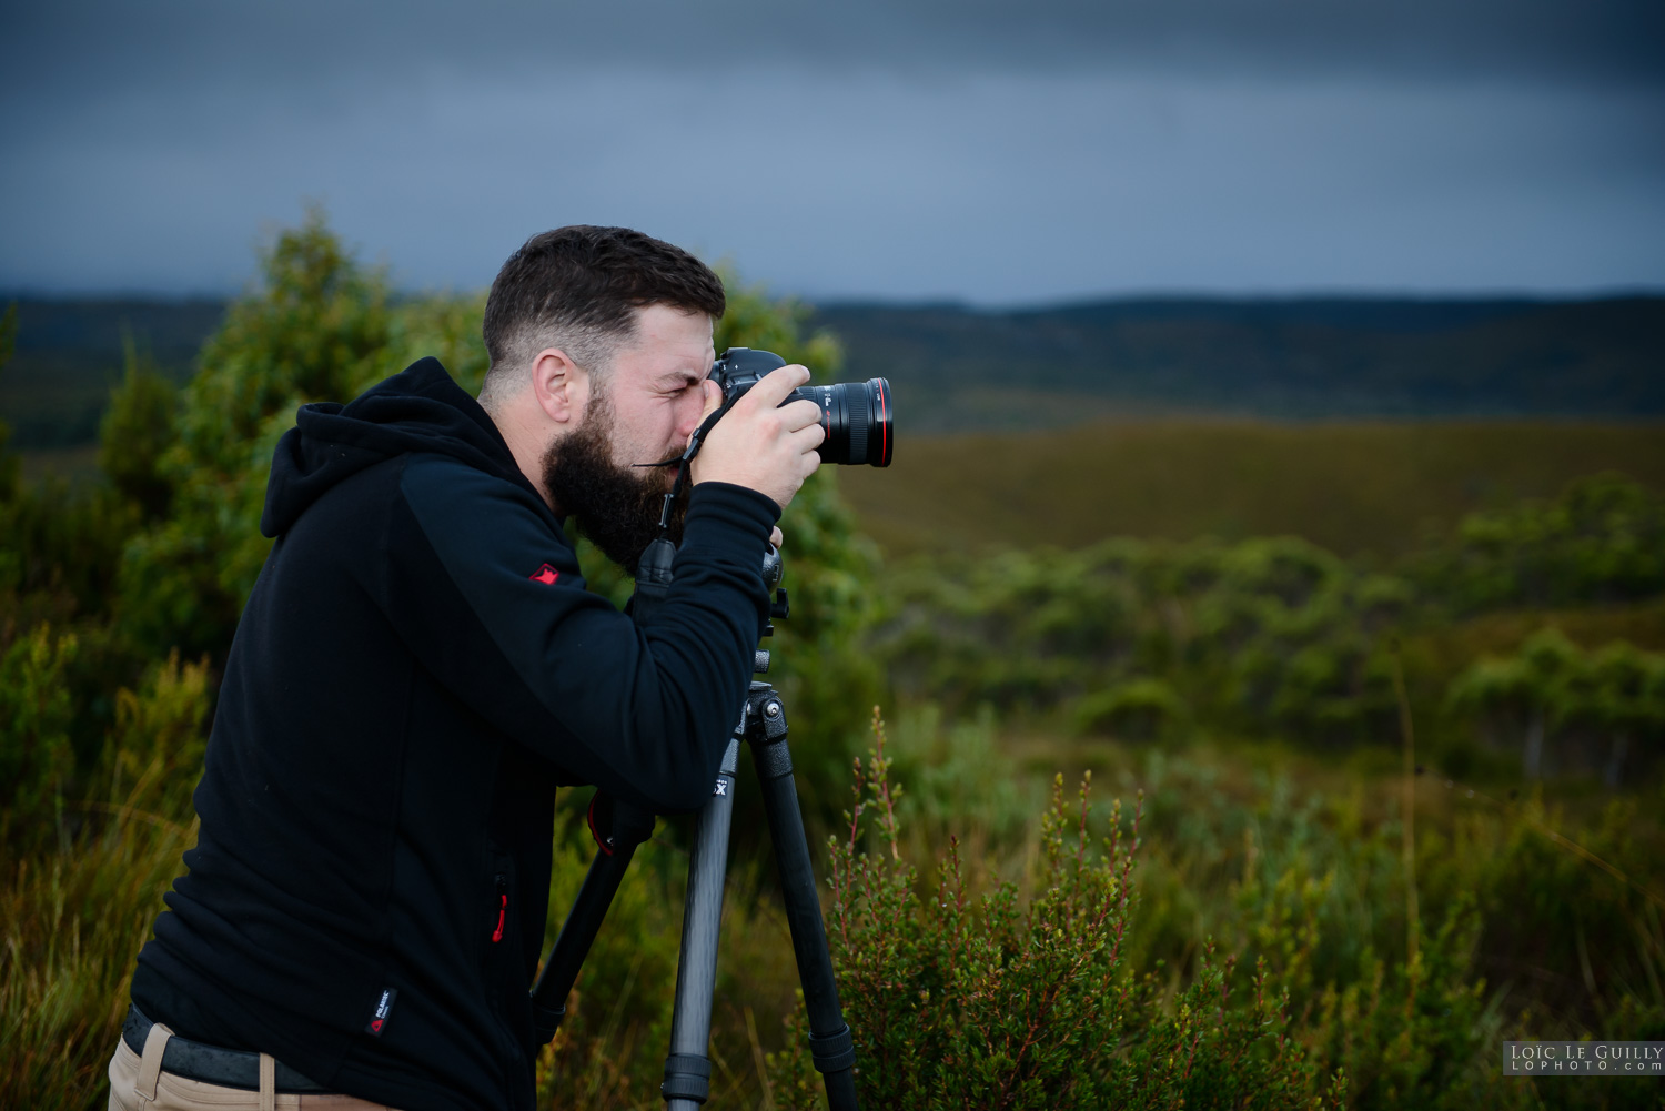
<instances>
[{"instance_id":1,"label":"man's black hooded fleece jacket with small red details","mask_svg":"<svg viewBox=\"0 0 1665 1111\"><path fill-rule=\"evenodd\" d=\"M531 1108L554 790L704 801L778 516L753 490L696 486L676 581L639 628L584 590L561 521L438 361L301 408L190 874L135 1003L375 1103Z\"/></svg>"}]
</instances>

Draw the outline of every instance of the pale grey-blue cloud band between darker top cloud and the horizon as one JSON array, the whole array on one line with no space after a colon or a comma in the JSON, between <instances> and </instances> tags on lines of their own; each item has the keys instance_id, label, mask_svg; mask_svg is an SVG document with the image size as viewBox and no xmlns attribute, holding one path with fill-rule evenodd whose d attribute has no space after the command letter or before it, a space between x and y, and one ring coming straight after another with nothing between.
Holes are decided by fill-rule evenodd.
<instances>
[{"instance_id":1,"label":"pale grey-blue cloud band between darker top cloud and the horizon","mask_svg":"<svg viewBox=\"0 0 1665 1111\"><path fill-rule=\"evenodd\" d=\"M301 197L411 285L483 285L566 222L811 295L1658 285L1665 142L1638 140L1665 138L1655 107L1069 73L436 78L210 140L38 138L3 195L52 218L7 230L0 286L200 288L246 273L256 215L293 220Z\"/></svg>"}]
</instances>

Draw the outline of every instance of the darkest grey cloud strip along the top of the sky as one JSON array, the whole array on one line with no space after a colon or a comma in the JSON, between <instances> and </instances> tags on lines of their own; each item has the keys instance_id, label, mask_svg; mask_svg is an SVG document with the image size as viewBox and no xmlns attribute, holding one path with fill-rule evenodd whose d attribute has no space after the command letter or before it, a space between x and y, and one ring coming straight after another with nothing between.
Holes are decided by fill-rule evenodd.
<instances>
[{"instance_id":1,"label":"darkest grey cloud strip along the top of the sky","mask_svg":"<svg viewBox=\"0 0 1665 1111\"><path fill-rule=\"evenodd\" d=\"M35 5L8 22L8 95L183 82L305 97L456 67L598 63L1665 85L1658 0L107 0Z\"/></svg>"}]
</instances>

